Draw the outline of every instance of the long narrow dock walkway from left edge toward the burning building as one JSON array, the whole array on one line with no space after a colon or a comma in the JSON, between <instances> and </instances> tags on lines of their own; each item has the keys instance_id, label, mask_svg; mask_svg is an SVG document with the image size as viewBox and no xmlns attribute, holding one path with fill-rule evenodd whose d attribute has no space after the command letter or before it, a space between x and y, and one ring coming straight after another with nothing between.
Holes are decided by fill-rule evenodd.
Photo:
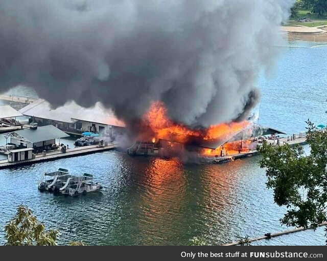
<instances>
[{"instance_id":1,"label":"long narrow dock walkway from left edge toward the burning building","mask_svg":"<svg viewBox=\"0 0 327 261\"><path fill-rule=\"evenodd\" d=\"M44 161L54 161L58 159L77 157L82 155L101 153L103 151L114 150L118 148L118 143L111 143L107 146L99 147L99 145L84 146L78 148L67 149L66 153L61 153L60 150L52 151L47 153L45 156L42 154L36 155L34 159L18 161L18 162L8 162L8 160L0 160L0 169L12 168L23 165L31 165L34 163L44 162Z\"/></svg>"}]
</instances>

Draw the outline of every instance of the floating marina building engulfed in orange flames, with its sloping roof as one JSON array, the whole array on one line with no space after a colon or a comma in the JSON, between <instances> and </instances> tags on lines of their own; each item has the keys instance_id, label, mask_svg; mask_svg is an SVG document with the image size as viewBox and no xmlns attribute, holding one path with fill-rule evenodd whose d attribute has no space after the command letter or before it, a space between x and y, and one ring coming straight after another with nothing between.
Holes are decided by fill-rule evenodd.
<instances>
[{"instance_id":1,"label":"floating marina building engulfed in orange flames, with its sloping roof","mask_svg":"<svg viewBox=\"0 0 327 261\"><path fill-rule=\"evenodd\" d=\"M144 115L143 132L137 142L128 149L129 154L158 155L178 153L181 150L196 151L201 156L222 157L240 154L256 147L259 136L286 134L272 128L264 128L251 120L221 123L208 128L177 124L169 119L163 102L152 102Z\"/></svg>"}]
</instances>

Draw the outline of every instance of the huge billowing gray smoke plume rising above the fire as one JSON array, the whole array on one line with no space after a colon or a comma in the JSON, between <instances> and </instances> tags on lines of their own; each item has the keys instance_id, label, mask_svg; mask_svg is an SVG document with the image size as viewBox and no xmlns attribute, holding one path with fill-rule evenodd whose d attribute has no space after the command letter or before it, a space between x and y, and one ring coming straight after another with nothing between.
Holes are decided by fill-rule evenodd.
<instances>
[{"instance_id":1,"label":"huge billowing gray smoke plume rising above the fire","mask_svg":"<svg viewBox=\"0 0 327 261\"><path fill-rule=\"evenodd\" d=\"M0 92L101 101L125 121L151 101L208 126L244 118L295 0L1 0Z\"/></svg>"}]
</instances>

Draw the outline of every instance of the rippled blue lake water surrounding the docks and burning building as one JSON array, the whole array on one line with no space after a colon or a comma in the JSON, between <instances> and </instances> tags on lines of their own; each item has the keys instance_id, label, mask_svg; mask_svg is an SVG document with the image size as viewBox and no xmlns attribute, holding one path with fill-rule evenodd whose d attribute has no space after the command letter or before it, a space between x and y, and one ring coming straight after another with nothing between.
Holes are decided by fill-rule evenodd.
<instances>
[{"instance_id":1,"label":"rippled blue lake water surrounding the docks and burning building","mask_svg":"<svg viewBox=\"0 0 327 261\"><path fill-rule=\"evenodd\" d=\"M292 134L305 130L308 118L327 122L327 47L311 48L317 44L310 42L289 45L283 47L273 75L258 81L263 92L259 122ZM0 170L0 228L22 203L46 227L60 230L60 244L82 240L95 245L184 245L198 235L223 244L286 230L279 224L285 209L273 203L259 160L196 165L110 151ZM93 173L106 189L78 198L39 192L42 172L59 167L75 174ZM255 244L324 241L319 228ZM4 242L0 229L0 243Z\"/></svg>"}]
</instances>

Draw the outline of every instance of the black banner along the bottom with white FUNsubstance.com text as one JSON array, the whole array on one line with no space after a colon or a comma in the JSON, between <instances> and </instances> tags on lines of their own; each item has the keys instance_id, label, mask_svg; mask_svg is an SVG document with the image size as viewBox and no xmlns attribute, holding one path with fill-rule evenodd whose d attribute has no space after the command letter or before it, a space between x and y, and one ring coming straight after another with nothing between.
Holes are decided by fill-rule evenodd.
<instances>
[{"instance_id":1,"label":"black banner along the bottom with white FUNsubstance.com text","mask_svg":"<svg viewBox=\"0 0 327 261\"><path fill-rule=\"evenodd\" d=\"M55 248L55 249L54 249ZM73 260L301 260L307 258L325 259L324 246L86 246L86 247L2 247L3 257L34 259Z\"/></svg>"}]
</instances>

